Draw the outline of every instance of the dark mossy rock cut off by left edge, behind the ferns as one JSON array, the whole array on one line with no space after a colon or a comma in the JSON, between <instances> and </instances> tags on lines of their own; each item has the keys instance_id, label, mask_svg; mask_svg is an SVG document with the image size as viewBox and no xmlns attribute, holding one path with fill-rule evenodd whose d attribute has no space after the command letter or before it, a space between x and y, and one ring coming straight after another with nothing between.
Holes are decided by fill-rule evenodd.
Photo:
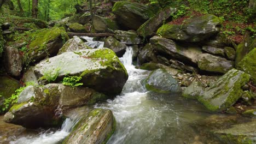
<instances>
[{"instance_id":1,"label":"dark mossy rock cut off by left edge, behind the ferns","mask_svg":"<svg viewBox=\"0 0 256 144\"><path fill-rule=\"evenodd\" d=\"M20 87L19 82L7 76L0 76L0 107Z\"/></svg>"}]
</instances>

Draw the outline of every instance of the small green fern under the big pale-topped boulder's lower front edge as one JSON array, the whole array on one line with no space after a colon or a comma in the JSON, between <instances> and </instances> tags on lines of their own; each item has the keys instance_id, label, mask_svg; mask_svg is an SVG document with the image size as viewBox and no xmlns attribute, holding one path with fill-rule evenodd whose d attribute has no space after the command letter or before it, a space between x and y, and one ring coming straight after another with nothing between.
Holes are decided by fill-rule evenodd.
<instances>
[{"instance_id":1,"label":"small green fern under the big pale-topped boulder's lower front edge","mask_svg":"<svg viewBox=\"0 0 256 144\"><path fill-rule=\"evenodd\" d=\"M82 77L80 77L80 76L68 76L68 75L66 75L63 78L62 84L74 88L74 87L83 85L82 82L79 82L80 80L82 80Z\"/></svg>"}]
</instances>

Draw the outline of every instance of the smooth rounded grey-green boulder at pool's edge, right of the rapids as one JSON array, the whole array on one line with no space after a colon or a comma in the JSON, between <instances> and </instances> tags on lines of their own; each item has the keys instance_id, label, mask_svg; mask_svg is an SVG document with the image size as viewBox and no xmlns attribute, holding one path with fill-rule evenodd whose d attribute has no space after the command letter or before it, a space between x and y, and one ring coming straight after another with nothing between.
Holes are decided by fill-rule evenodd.
<instances>
[{"instance_id":1,"label":"smooth rounded grey-green boulder at pool's edge, right of the rapids","mask_svg":"<svg viewBox=\"0 0 256 144\"><path fill-rule=\"evenodd\" d=\"M152 71L145 80L146 88L156 93L179 93L181 87L178 81L172 77L172 74L165 69Z\"/></svg>"}]
</instances>

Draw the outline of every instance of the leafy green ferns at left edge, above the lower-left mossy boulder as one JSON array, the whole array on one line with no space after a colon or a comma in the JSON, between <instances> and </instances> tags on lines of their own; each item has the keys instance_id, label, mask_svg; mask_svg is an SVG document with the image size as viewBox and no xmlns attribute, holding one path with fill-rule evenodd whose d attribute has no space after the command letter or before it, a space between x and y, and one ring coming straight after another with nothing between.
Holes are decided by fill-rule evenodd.
<instances>
[{"instance_id":1,"label":"leafy green ferns at left edge, above the lower-left mossy boulder","mask_svg":"<svg viewBox=\"0 0 256 144\"><path fill-rule=\"evenodd\" d=\"M5 112L6 110L9 109L10 106L16 104L18 102L18 97L20 95L20 93L28 86L34 86L34 82L27 82L25 87L20 87L18 89L16 89L16 91L11 95L10 98L5 99L3 106L0 107L0 112ZM1 95L0 95L1 96Z\"/></svg>"}]
</instances>

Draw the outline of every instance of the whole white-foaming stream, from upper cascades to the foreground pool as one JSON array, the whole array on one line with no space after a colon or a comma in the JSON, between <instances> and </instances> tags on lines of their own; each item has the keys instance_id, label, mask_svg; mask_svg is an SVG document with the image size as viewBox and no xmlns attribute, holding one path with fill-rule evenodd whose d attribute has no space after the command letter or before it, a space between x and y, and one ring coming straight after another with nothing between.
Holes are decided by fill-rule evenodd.
<instances>
[{"instance_id":1,"label":"whole white-foaming stream, from upper cascades to the foreground pool","mask_svg":"<svg viewBox=\"0 0 256 144\"><path fill-rule=\"evenodd\" d=\"M98 41L90 45L103 46ZM96 44L97 43L97 44ZM116 130L108 144L114 143L205 143L205 138L195 130L196 122L212 115L197 101L181 94L156 94L142 85L150 71L132 65L132 49L127 47L120 61L128 74L123 91L114 99L95 104L95 108L112 110ZM9 136L10 143L60 143L79 121L79 115L67 118L61 129L37 130L19 136ZM203 141L203 142L202 142ZM1 141L0 141L1 142Z\"/></svg>"}]
</instances>

